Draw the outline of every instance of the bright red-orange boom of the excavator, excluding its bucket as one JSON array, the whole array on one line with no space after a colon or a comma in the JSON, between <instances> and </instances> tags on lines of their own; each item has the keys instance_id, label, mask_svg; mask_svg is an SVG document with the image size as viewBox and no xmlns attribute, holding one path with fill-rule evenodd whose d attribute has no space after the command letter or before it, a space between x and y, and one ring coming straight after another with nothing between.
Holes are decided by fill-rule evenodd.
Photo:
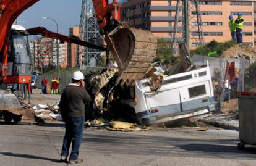
<instances>
[{"instance_id":1,"label":"bright red-orange boom of the excavator, excluding its bucket","mask_svg":"<svg viewBox=\"0 0 256 166\"><path fill-rule=\"evenodd\" d=\"M11 26L23 11L38 1L40 0L0 0L0 57L2 63L0 68L0 83L6 77L9 46L8 34ZM105 29L105 31L112 30L113 28L109 28L113 24L110 23L111 19L120 20L121 7L117 4L117 1L114 0L109 4L107 0L93 0L93 6L95 7L99 27L102 30ZM71 40L75 42L75 39L72 38Z\"/></svg>"}]
</instances>

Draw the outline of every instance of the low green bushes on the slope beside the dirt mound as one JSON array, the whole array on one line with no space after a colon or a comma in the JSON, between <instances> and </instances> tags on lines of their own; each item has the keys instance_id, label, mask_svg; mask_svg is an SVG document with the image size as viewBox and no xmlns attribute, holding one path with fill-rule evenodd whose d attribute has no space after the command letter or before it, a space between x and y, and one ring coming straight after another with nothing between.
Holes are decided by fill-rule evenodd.
<instances>
[{"instance_id":1,"label":"low green bushes on the slope beside the dirt mound","mask_svg":"<svg viewBox=\"0 0 256 166\"><path fill-rule=\"evenodd\" d=\"M224 43L213 40L205 46L199 46L197 49L190 51L190 53L207 56L210 52L216 51L217 54L215 55L215 57L220 57L223 51L226 51L227 49L231 48L236 44L237 43L233 40L226 41Z\"/></svg>"}]
</instances>

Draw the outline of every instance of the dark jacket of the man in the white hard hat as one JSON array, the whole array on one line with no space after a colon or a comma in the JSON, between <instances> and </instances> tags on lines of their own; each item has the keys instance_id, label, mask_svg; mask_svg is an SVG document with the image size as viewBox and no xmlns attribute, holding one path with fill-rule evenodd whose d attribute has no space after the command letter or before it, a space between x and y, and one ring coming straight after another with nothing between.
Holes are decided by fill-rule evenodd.
<instances>
[{"instance_id":1,"label":"dark jacket of the man in the white hard hat","mask_svg":"<svg viewBox=\"0 0 256 166\"><path fill-rule=\"evenodd\" d=\"M85 104L88 104L90 101L91 97L85 88L74 84L66 86L59 102L59 109L61 110L63 120L69 117L84 117Z\"/></svg>"}]
</instances>

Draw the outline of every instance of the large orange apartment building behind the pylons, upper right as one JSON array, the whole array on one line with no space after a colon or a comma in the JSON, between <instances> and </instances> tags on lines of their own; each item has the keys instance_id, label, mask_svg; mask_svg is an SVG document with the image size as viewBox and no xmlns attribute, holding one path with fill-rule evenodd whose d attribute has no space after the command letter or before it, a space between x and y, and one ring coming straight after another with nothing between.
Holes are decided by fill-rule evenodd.
<instances>
[{"instance_id":1,"label":"large orange apartment building behind the pylons, upper right","mask_svg":"<svg viewBox=\"0 0 256 166\"><path fill-rule=\"evenodd\" d=\"M173 0L128 0L122 3L122 19L136 28L150 30L158 38L171 39L174 30L176 2ZM203 34L205 43L212 40L228 41L231 35L228 27L229 15L242 12L244 23L244 43L254 46L254 2L253 1L200 1ZM193 19L197 13L194 1L189 1L190 49L195 49L197 42L192 38L198 35L193 30L197 24Z\"/></svg>"}]
</instances>

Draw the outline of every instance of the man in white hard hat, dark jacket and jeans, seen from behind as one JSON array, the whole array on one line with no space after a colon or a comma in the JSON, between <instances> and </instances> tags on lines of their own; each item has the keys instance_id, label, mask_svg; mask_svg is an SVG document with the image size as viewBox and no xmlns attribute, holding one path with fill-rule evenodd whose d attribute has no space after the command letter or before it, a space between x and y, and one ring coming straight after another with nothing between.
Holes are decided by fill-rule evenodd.
<instances>
[{"instance_id":1,"label":"man in white hard hat, dark jacket and jeans, seen from behind","mask_svg":"<svg viewBox=\"0 0 256 166\"><path fill-rule=\"evenodd\" d=\"M67 162L69 147L72 143L72 151L69 156L70 164L83 162L83 159L79 159L79 148L83 138L85 104L91 101L90 95L85 90L84 78L82 72L74 72L72 83L66 86L59 102L61 116L66 128L61 150L61 162Z\"/></svg>"}]
</instances>

